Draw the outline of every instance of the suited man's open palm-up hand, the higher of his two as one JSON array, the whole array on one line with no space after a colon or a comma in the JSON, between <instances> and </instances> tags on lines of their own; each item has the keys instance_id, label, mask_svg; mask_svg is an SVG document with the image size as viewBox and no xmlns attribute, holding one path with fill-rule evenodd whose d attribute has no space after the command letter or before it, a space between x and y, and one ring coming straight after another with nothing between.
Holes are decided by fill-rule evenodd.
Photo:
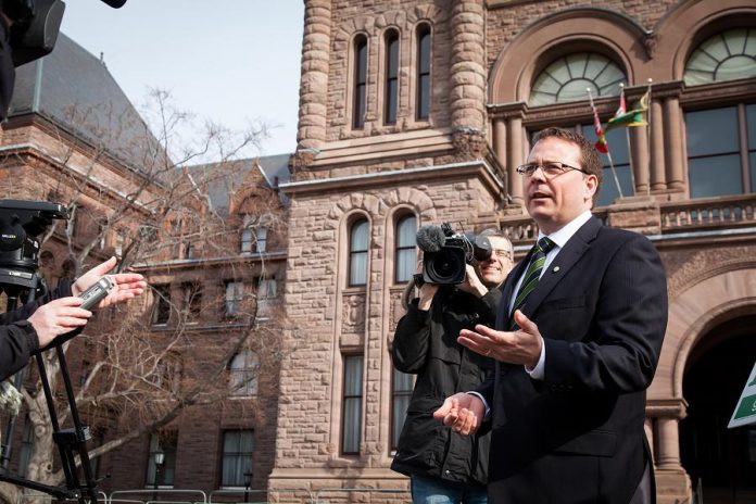
<instances>
[{"instance_id":1,"label":"suited man's open palm-up hand, the higher of his two","mask_svg":"<svg viewBox=\"0 0 756 504\"><path fill-rule=\"evenodd\" d=\"M474 331L461 330L457 341L481 355L533 368L538 364L543 346L541 332L536 323L519 310L515 311L515 323L519 329L514 331L497 331L479 324L475 326Z\"/></svg>"}]
</instances>

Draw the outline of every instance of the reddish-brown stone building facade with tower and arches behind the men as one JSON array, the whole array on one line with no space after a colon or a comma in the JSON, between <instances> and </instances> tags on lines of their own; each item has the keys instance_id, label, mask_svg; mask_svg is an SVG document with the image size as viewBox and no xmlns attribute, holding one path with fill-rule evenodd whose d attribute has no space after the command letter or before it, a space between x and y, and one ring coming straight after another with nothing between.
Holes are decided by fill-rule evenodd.
<instances>
[{"instance_id":1,"label":"reddish-brown stone building facade with tower and arches behind the men","mask_svg":"<svg viewBox=\"0 0 756 504\"><path fill-rule=\"evenodd\" d=\"M753 499L756 431L723 427L756 354L753 3L308 0L304 24L299 147L281 188L284 301L306 331L286 335L270 489L406 489L389 470L400 229L496 225L521 257L537 229L515 168L531 135L595 136L585 89L606 123L622 84L628 108L651 90L650 126L609 133L595 214L647 235L667 268L646 410L657 495ZM728 378L714 387L710 373Z\"/></svg>"}]
</instances>

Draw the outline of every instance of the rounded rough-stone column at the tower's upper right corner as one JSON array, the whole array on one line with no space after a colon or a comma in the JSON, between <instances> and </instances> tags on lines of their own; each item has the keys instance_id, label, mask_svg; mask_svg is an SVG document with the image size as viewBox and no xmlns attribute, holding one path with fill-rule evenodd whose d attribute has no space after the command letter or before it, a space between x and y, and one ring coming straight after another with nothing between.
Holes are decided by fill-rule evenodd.
<instances>
[{"instance_id":1,"label":"rounded rough-stone column at the tower's upper right corner","mask_svg":"<svg viewBox=\"0 0 756 504\"><path fill-rule=\"evenodd\" d=\"M483 0L455 0L450 20L452 127L477 134L486 128L483 14Z\"/></svg>"}]
</instances>

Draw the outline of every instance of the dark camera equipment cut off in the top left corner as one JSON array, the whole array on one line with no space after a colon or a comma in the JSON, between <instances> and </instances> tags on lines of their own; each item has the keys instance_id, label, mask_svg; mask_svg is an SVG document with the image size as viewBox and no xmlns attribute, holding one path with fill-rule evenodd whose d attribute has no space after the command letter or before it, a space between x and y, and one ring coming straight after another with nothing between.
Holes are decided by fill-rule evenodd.
<instances>
[{"instance_id":1,"label":"dark camera equipment cut off in the top left corner","mask_svg":"<svg viewBox=\"0 0 756 504\"><path fill-rule=\"evenodd\" d=\"M114 9L126 0L102 0ZM0 121L13 96L15 67L49 54L58 41L62 0L0 0Z\"/></svg>"}]
</instances>

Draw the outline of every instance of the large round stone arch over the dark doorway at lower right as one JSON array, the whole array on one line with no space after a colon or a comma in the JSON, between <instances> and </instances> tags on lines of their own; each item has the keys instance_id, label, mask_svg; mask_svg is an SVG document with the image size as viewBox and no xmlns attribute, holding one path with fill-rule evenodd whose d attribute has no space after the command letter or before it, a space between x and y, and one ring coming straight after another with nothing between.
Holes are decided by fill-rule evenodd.
<instances>
[{"instance_id":1,"label":"large round stone arch over the dark doorway at lower right","mask_svg":"<svg viewBox=\"0 0 756 504\"><path fill-rule=\"evenodd\" d=\"M648 399L682 398L685 365L695 344L713 327L744 314L756 314L756 265L705 278L676 298Z\"/></svg>"}]
</instances>

